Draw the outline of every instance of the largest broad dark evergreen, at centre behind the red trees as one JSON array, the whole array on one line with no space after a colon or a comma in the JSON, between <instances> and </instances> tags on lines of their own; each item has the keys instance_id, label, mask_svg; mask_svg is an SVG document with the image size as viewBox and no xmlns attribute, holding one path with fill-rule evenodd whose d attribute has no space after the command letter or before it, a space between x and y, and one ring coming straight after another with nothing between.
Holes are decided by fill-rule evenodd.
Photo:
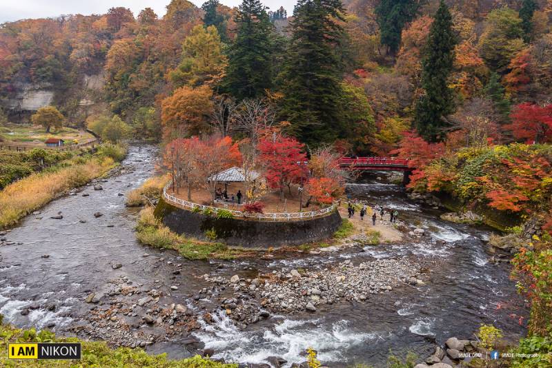
<instances>
[{"instance_id":1,"label":"largest broad dark evergreen, at centre behind the red trees","mask_svg":"<svg viewBox=\"0 0 552 368\"><path fill-rule=\"evenodd\" d=\"M314 143L339 136L339 96L344 37L341 0L299 0L282 77L282 117L300 141Z\"/></svg>"}]
</instances>

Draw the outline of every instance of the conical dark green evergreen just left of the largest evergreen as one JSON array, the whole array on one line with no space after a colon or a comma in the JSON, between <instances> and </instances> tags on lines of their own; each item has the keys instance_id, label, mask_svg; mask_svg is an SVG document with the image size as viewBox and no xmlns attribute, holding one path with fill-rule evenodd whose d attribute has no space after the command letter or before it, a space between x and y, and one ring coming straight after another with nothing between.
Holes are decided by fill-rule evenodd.
<instances>
[{"instance_id":1,"label":"conical dark green evergreen just left of the largest evergreen","mask_svg":"<svg viewBox=\"0 0 552 368\"><path fill-rule=\"evenodd\" d=\"M273 24L259 0L244 0L235 22L225 86L236 99L264 96L272 83Z\"/></svg>"}]
</instances>

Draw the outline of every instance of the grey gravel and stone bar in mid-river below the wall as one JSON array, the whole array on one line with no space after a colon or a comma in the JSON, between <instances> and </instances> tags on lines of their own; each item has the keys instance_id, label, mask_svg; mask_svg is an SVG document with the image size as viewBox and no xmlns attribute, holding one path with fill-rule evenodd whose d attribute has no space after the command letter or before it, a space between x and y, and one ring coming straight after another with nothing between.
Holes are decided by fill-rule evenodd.
<instances>
[{"instance_id":1,"label":"grey gravel and stone bar in mid-river below the wall","mask_svg":"<svg viewBox=\"0 0 552 368\"><path fill-rule=\"evenodd\" d=\"M250 307L239 305L244 295L259 300L259 305L271 312L294 313L316 311L317 305L332 305L340 301L364 301L371 294L391 292L397 285L424 285L417 277L420 266L411 260L373 260L357 265L345 260L320 271L291 269L290 272L273 271L257 278L204 279L233 289L235 297L221 300L226 314L237 320L255 320ZM244 318L244 314L249 314Z\"/></svg>"}]
</instances>

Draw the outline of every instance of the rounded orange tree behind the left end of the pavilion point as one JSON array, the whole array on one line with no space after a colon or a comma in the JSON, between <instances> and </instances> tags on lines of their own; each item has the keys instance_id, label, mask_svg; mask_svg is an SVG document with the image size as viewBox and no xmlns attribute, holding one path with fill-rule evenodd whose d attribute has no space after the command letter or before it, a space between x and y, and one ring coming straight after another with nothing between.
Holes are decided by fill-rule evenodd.
<instances>
[{"instance_id":1,"label":"rounded orange tree behind the left end of the pavilion point","mask_svg":"<svg viewBox=\"0 0 552 368\"><path fill-rule=\"evenodd\" d=\"M213 91L206 85L178 88L161 103L164 139L205 133L213 114Z\"/></svg>"}]
</instances>

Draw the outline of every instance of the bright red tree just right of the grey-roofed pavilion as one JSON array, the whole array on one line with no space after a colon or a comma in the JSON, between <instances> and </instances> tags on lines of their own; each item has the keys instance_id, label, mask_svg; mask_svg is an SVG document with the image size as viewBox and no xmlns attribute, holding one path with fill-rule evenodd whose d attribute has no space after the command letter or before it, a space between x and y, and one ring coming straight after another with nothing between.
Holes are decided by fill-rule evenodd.
<instances>
[{"instance_id":1,"label":"bright red tree just right of the grey-roofed pavilion","mask_svg":"<svg viewBox=\"0 0 552 368\"><path fill-rule=\"evenodd\" d=\"M279 134L266 137L257 145L259 159L265 167L266 180L273 189L279 190L280 201L284 201L284 188L291 192L291 184L306 178L307 167L297 165L306 161L304 145L294 138Z\"/></svg>"}]
</instances>

